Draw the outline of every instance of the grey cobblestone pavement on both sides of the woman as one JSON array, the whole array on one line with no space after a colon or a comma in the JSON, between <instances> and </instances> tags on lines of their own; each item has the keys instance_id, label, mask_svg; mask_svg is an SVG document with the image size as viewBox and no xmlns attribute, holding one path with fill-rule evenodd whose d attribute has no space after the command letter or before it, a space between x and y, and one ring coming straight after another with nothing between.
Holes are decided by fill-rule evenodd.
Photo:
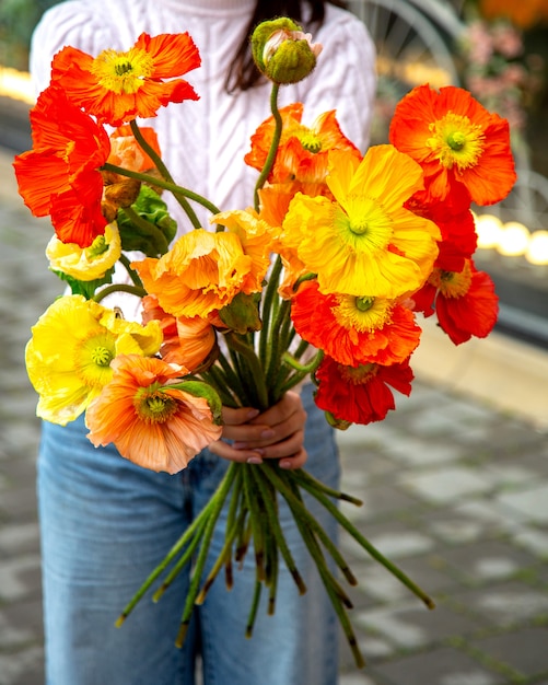
<instances>
[{"instance_id":1,"label":"grey cobblestone pavement on both sides of the woman","mask_svg":"<svg viewBox=\"0 0 548 685\"><path fill-rule=\"evenodd\" d=\"M10 161L0 150L0 685L38 685L38 422L23 348L60 285L43 254L47 222L20 201ZM341 639L340 685L548 685L546 429L431 380L398 405L340 433L343 487L364 501L345 511L438 606L429 612L343 535L368 667L355 670Z\"/></svg>"}]
</instances>

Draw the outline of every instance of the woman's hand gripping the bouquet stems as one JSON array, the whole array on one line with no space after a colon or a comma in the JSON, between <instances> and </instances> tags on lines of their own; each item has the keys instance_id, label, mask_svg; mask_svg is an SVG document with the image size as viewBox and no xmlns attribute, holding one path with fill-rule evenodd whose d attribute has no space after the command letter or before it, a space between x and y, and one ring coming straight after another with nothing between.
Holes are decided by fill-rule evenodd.
<instances>
[{"instance_id":1,"label":"woman's hand gripping the bouquet stems","mask_svg":"<svg viewBox=\"0 0 548 685\"><path fill-rule=\"evenodd\" d=\"M287 393L263 414L248 407L224 407L223 421L222 439L209 446L218 456L249 464L260 464L265 458L279 458L282 468L301 468L306 462L306 411L296 393ZM226 440L232 444L226 443Z\"/></svg>"}]
</instances>

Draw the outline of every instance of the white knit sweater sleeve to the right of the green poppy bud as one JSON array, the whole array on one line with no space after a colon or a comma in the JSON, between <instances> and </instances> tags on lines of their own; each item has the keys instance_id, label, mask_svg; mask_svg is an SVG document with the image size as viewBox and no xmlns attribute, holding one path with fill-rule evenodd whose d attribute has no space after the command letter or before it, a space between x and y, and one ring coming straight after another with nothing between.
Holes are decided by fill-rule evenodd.
<instances>
[{"instance_id":1,"label":"white knit sweater sleeve to the right of the green poppy bud","mask_svg":"<svg viewBox=\"0 0 548 685\"><path fill-rule=\"evenodd\" d=\"M360 19L333 5L313 40L323 50L315 70L296 86L296 100L305 105L305 123L336 109L342 132L364 152L376 89L373 40Z\"/></svg>"}]
</instances>

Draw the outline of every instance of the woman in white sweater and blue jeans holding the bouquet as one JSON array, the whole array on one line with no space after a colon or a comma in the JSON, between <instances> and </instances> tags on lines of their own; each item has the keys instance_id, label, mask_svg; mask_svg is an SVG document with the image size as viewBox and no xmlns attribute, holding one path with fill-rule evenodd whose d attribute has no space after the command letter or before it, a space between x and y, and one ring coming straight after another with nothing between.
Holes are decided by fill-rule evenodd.
<instances>
[{"instance_id":1,"label":"woman in white sweater and blue jeans holding the bouquet","mask_svg":"<svg viewBox=\"0 0 548 685\"><path fill-rule=\"evenodd\" d=\"M337 108L343 132L363 151L374 96L372 43L355 16L323 1L69 0L37 26L32 73L37 90L44 89L50 59L65 45L97 55L128 49L142 32L188 32L202 57L202 66L188 74L200 100L170 105L147 125L156 129L164 161L180 185L222 209L245 208L257 173L243 155L270 114L269 85L248 65L247 36L256 23L277 15L301 22L324 46L313 74L281 89L280 106L303 102L308 121ZM201 218L207 225L207 214ZM179 231L189 228L180 221ZM121 303L123 310L131 306ZM310 387L301 397L288 394L260 416L246 408L225 410L224 418L223 441L175 476L142 469L114 449L94 449L82 421L44 426L38 497L48 685L193 685L198 653L207 685L336 682L337 622L289 514L285 534L307 593L300 597L281 570L276 615L259 609L252 640L244 637L252 562L235 572L231 592L222 580L213 584L182 650L174 638L185 573L158 605L145 599L123 628L114 627L126 601L201 510L230 460L278 457L281 466L295 468L307 458L311 473L337 484L334 437ZM313 513L335 536L329 516L314 508ZM220 534L212 559L221 544Z\"/></svg>"}]
</instances>

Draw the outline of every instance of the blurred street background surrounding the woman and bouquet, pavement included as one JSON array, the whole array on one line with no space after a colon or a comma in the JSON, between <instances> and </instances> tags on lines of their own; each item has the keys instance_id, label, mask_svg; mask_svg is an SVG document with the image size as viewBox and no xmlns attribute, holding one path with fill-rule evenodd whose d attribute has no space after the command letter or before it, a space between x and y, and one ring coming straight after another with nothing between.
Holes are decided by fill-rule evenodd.
<instances>
[{"instance_id":1,"label":"blurred street background surrounding the woman and bouquet, pavement included","mask_svg":"<svg viewBox=\"0 0 548 685\"><path fill-rule=\"evenodd\" d=\"M28 47L53 4L0 0L0 685L44 682L39 426L23 350L61 287L44 256L50 228L23 206L11 162L31 147ZM370 665L357 672L342 645L341 685L548 685L548 0L348 4L377 47L372 142L415 85L460 85L509 119L518 178L500 205L474 208L495 330L455 348L422 322L411 397L339 436L345 488L364 500L349 515L438 604L417 606L343 536Z\"/></svg>"}]
</instances>

